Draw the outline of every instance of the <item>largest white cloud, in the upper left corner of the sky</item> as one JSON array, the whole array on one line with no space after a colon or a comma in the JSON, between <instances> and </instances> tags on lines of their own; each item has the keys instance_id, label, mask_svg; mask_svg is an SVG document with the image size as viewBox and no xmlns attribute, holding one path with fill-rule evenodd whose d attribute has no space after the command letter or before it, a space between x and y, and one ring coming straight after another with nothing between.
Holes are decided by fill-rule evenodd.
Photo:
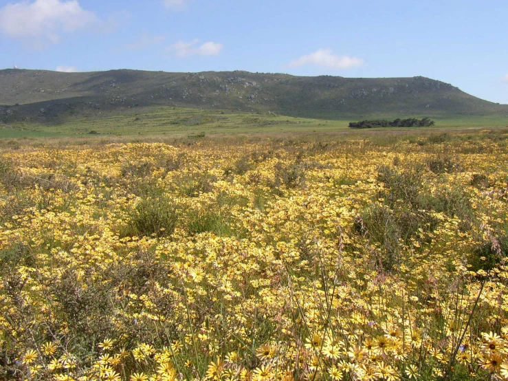
<instances>
[{"instance_id":1,"label":"largest white cloud, in the upper left corner of the sky","mask_svg":"<svg viewBox=\"0 0 508 381\"><path fill-rule=\"evenodd\" d=\"M35 0L0 8L0 32L42 47L58 43L60 34L82 30L98 21L77 0Z\"/></svg>"}]
</instances>

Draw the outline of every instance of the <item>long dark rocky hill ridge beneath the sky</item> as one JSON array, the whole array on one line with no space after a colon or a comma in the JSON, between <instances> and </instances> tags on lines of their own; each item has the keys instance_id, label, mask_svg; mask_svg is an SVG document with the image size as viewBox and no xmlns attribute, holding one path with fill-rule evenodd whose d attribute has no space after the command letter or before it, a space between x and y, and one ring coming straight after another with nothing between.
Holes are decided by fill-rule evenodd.
<instances>
[{"instance_id":1,"label":"long dark rocky hill ridge beneath the sky","mask_svg":"<svg viewBox=\"0 0 508 381\"><path fill-rule=\"evenodd\" d=\"M506 115L508 105L470 96L438 80L299 77L249 72L137 70L60 73L0 70L0 120L62 122L175 106L344 118L401 115Z\"/></svg>"}]
</instances>

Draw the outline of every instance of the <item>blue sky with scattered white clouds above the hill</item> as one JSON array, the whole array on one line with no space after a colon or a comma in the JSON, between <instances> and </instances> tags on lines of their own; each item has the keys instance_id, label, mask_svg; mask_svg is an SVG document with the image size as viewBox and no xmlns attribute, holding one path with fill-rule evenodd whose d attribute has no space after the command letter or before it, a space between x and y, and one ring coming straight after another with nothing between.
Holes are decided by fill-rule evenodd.
<instances>
[{"instance_id":1,"label":"blue sky with scattered white clouds above the hill","mask_svg":"<svg viewBox=\"0 0 508 381\"><path fill-rule=\"evenodd\" d=\"M508 104L508 1L0 0L0 67L427 76Z\"/></svg>"}]
</instances>

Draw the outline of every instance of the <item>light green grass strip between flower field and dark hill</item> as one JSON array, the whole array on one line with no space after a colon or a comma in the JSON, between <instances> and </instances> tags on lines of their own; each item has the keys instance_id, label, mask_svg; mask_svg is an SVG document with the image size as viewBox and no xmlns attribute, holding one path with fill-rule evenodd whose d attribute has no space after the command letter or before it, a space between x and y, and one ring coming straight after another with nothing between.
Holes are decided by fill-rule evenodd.
<instances>
[{"instance_id":1,"label":"light green grass strip between flower field and dark hill","mask_svg":"<svg viewBox=\"0 0 508 381\"><path fill-rule=\"evenodd\" d=\"M368 118L395 119L393 114L362 116ZM393 128L389 130L421 131L439 129L467 129L507 127L508 119L499 116L456 116L453 118L433 118L435 127ZM0 128L0 138L38 138L56 136L95 136L95 135L187 135L199 138L201 133L289 133L289 132L333 132L351 131L349 122L360 120L349 117L344 120L322 120L280 116L273 113L233 113L230 111L190 109L183 107L163 107L146 110L131 115L109 116L107 118L80 118L62 124L14 124L10 128ZM369 129L368 131L375 131ZM388 130L388 129L384 129Z\"/></svg>"}]
</instances>

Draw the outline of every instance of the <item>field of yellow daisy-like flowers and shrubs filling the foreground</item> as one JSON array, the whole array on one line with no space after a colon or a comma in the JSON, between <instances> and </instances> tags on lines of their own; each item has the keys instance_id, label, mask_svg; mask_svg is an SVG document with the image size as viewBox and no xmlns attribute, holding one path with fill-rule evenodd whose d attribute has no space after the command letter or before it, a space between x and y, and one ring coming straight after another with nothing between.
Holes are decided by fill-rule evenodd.
<instances>
[{"instance_id":1,"label":"field of yellow daisy-like flowers and shrubs filling the foreground","mask_svg":"<svg viewBox=\"0 0 508 381\"><path fill-rule=\"evenodd\" d=\"M35 143L0 380L508 379L508 130Z\"/></svg>"}]
</instances>

